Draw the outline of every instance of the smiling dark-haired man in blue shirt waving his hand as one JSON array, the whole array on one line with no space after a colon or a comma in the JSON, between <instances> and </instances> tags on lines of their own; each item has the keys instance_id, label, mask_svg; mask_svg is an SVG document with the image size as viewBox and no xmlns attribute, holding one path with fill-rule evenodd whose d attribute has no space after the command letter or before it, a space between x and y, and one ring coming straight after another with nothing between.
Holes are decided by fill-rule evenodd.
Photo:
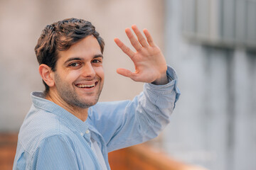
<instances>
[{"instance_id":1,"label":"smiling dark-haired man in blue shirt waving his hand","mask_svg":"<svg viewBox=\"0 0 256 170\"><path fill-rule=\"evenodd\" d=\"M107 153L156 137L169 123L178 100L176 73L148 30L125 32L137 52L114 41L136 71L117 73L142 81L133 101L97 103L104 82L104 41L81 19L46 26L36 45L39 73L46 86L33 92L31 110L21 126L13 169L110 169ZM138 40L137 40L138 39Z\"/></svg>"}]
</instances>

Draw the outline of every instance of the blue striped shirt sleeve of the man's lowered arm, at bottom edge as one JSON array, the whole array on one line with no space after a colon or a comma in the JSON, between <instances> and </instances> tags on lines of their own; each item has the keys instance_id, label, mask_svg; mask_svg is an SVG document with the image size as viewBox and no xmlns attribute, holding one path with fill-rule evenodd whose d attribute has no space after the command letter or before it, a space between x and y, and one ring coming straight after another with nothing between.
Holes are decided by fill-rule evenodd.
<instances>
[{"instance_id":1,"label":"blue striped shirt sleeve of the man's lowered arm, at bottom edge","mask_svg":"<svg viewBox=\"0 0 256 170\"><path fill-rule=\"evenodd\" d=\"M54 135L41 141L31 169L78 169L75 153L65 137Z\"/></svg>"}]
</instances>

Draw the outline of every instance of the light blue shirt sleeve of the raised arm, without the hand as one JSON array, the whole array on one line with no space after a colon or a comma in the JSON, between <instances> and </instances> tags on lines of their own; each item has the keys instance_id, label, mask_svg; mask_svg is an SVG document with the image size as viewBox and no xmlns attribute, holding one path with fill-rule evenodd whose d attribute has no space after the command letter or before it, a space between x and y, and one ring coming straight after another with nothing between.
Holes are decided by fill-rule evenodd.
<instances>
[{"instance_id":1,"label":"light blue shirt sleeve of the raised arm, without the hand","mask_svg":"<svg viewBox=\"0 0 256 170\"><path fill-rule=\"evenodd\" d=\"M137 145L159 135L180 96L177 75L168 67L169 83L144 84L144 91L132 101L98 103L90 115L107 143L107 150Z\"/></svg>"}]
</instances>

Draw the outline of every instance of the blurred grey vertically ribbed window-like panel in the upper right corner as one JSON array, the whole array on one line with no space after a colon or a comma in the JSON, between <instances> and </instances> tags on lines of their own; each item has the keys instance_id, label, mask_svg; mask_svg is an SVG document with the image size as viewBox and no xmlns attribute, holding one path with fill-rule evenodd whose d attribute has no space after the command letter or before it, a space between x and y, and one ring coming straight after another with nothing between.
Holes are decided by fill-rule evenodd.
<instances>
[{"instance_id":1,"label":"blurred grey vertically ribbed window-like panel in the upper right corner","mask_svg":"<svg viewBox=\"0 0 256 170\"><path fill-rule=\"evenodd\" d=\"M183 35L208 45L256 47L256 0L183 0Z\"/></svg>"}]
</instances>

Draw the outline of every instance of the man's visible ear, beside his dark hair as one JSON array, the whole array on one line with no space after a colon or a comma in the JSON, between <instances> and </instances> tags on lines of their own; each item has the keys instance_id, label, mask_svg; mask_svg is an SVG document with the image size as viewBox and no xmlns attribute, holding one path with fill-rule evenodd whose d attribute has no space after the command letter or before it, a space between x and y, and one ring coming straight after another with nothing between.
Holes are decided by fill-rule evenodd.
<instances>
[{"instance_id":1,"label":"man's visible ear, beside his dark hair","mask_svg":"<svg viewBox=\"0 0 256 170\"><path fill-rule=\"evenodd\" d=\"M41 64L39 66L39 74L41 75L43 81L46 82L46 84L50 87L55 85L54 79L53 79L53 71L48 67L46 64Z\"/></svg>"}]
</instances>

